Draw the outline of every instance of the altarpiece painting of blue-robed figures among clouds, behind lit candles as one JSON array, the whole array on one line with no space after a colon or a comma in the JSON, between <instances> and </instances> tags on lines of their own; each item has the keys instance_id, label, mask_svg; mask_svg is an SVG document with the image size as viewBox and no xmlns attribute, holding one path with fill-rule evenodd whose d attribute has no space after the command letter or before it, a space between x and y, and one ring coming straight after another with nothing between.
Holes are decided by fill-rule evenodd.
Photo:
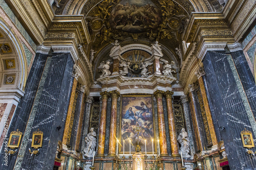
<instances>
[{"instance_id":1,"label":"altarpiece painting of blue-robed figures among clouds, behind lit candles","mask_svg":"<svg viewBox=\"0 0 256 170\"><path fill-rule=\"evenodd\" d=\"M154 111L152 106L152 96L122 96L120 122L120 141L122 144L119 150L120 153L123 152L123 140L125 154L127 154L130 151L130 140L131 152L135 152L135 148L139 138L141 151L145 152L146 140L146 151L148 154L152 154L152 139L154 139L155 136L155 122ZM141 127L139 135L135 132L136 125L139 125ZM154 145L155 144L156 143L154 139ZM154 149L154 151L156 150Z\"/></svg>"}]
</instances>

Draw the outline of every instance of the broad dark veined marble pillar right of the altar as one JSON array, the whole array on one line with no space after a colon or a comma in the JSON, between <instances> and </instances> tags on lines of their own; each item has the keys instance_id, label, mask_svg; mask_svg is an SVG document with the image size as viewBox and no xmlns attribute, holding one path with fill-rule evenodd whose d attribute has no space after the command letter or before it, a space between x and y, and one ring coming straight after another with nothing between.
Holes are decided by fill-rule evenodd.
<instances>
[{"instance_id":1,"label":"broad dark veined marble pillar right of the altar","mask_svg":"<svg viewBox=\"0 0 256 170\"><path fill-rule=\"evenodd\" d=\"M255 169L256 160L251 159L243 148L241 131L252 131L232 67L231 56L225 51L208 51L203 59L206 82L220 131L224 141L230 169ZM252 133L255 139L254 133ZM251 149L255 152L255 149Z\"/></svg>"}]
</instances>

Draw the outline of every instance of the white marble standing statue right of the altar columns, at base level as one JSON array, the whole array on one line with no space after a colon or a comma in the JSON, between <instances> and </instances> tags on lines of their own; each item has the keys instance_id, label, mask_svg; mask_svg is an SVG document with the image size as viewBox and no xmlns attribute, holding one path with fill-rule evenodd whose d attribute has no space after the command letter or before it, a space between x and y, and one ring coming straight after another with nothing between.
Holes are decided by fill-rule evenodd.
<instances>
[{"instance_id":1,"label":"white marble standing statue right of the altar columns, at base level","mask_svg":"<svg viewBox=\"0 0 256 170\"><path fill-rule=\"evenodd\" d=\"M178 136L178 141L181 144L181 152L182 152L182 156L187 158L190 157L190 155L188 154L190 151L190 147L189 147L189 139L188 139L188 135L187 132L185 131L184 128L181 129L181 132Z\"/></svg>"}]
</instances>

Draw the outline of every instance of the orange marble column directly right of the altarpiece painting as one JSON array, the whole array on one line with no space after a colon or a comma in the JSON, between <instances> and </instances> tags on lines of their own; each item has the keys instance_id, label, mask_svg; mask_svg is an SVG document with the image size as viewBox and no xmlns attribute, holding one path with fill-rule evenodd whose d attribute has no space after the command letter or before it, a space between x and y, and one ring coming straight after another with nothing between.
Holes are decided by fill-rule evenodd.
<instances>
[{"instance_id":1,"label":"orange marble column directly right of the altarpiece painting","mask_svg":"<svg viewBox=\"0 0 256 170\"><path fill-rule=\"evenodd\" d=\"M157 99L157 116L158 116L158 129L159 129L159 142L160 142L160 156L168 156L167 153L167 142L166 142L166 132L164 124L164 114L163 114L163 101L162 101L163 91L156 90L154 95Z\"/></svg>"}]
</instances>

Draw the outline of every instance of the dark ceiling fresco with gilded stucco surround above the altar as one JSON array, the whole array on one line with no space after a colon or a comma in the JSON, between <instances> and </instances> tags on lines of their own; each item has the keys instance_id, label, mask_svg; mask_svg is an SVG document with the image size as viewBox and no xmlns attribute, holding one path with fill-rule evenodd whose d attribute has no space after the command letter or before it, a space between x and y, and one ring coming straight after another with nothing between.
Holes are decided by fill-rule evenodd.
<instances>
[{"instance_id":1,"label":"dark ceiling fresco with gilded stucco surround above the altar","mask_svg":"<svg viewBox=\"0 0 256 170\"><path fill-rule=\"evenodd\" d=\"M86 17L92 46L100 50L115 40L172 41L175 46L188 22L187 12L169 0L104 0ZM165 40L166 39L166 40Z\"/></svg>"}]
</instances>

